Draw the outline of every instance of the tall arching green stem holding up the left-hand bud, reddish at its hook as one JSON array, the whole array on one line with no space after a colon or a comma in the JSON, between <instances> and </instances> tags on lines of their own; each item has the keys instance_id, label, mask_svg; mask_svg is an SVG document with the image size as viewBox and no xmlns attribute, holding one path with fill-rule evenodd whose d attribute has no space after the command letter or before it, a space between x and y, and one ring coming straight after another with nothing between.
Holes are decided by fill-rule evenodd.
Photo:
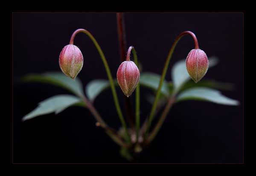
<instances>
[{"instance_id":1,"label":"tall arching green stem holding up the left-hand bud, reddish at its hook","mask_svg":"<svg viewBox=\"0 0 256 176\"><path fill-rule=\"evenodd\" d=\"M112 90L113 99L114 99L114 103L115 103L115 106L116 106L117 114L118 114L119 119L120 119L120 121L122 123L122 126L125 128L125 134L127 135L127 138L128 138L128 140L130 142L130 136L129 136L129 133L128 133L128 129L127 129L125 120L124 120L123 115L122 115L122 111L121 111L121 108L120 108L120 105L119 105L119 101L118 101L118 98L117 98L117 95L116 95L116 89L115 89L115 86L114 86L113 78L112 78L112 75L111 75L111 72L110 72L110 69L109 69L109 66L108 66L108 62L107 62L107 60L105 58L105 55L103 54L102 49L100 48L98 42L93 37L93 35L90 34L90 32L85 30L85 29L77 29L76 31L74 31L74 33L72 34L72 36L70 38L70 44L73 45L74 38L75 38L76 34L78 34L79 32L83 32L83 33L87 34L87 36L90 37L90 39L93 41L94 45L96 46L97 50L99 51L99 55L102 58L102 62L104 64L104 66L105 66L105 69L106 69L106 72L107 72L107 75L108 75L108 80L109 80L110 87L111 87L111 90Z\"/></svg>"}]
</instances>

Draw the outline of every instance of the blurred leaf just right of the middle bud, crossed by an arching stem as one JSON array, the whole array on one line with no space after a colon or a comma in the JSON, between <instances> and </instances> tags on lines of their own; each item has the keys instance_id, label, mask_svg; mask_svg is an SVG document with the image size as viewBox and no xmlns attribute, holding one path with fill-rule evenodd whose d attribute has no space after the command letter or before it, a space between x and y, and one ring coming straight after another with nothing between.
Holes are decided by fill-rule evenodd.
<instances>
[{"instance_id":1,"label":"blurred leaf just right of the middle bud, crossed by an arching stem","mask_svg":"<svg viewBox=\"0 0 256 176\"><path fill-rule=\"evenodd\" d=\"M159 74L145 72L140 75L140 85L151 88L156 91L158 88L160 79L161 79L161 75ZM161 93L165 96L169 95L168 84L165 80L163 81Z\"/></svg>"}]
</instances>

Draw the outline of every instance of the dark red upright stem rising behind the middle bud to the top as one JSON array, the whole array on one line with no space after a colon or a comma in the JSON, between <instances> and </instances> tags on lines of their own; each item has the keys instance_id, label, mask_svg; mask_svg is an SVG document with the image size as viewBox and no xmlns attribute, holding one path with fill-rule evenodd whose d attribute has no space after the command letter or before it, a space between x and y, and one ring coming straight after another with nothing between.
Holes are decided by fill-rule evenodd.
<instances>
[{"instance_id":1,"label":"dark red upright stem rising behind the middle bud to the top","mask_svg":"<svg viewBox=\"0 0 256 176\"><path fill-rule=\"evenodd\" d=\"M116 20L117 20L117 31L118 31L118 38L119 38L119 48L120 48L120 61L125 61L125 53L126 53L126 37L125 37L125 22L124 22L124 15L123 13L116 13ZM128 122L131 125L131 128L134 128L134 115L131 106L131 99L130 97L126 97L123 95L125 100L125 111Z\"/></svg>"}]
</instances>

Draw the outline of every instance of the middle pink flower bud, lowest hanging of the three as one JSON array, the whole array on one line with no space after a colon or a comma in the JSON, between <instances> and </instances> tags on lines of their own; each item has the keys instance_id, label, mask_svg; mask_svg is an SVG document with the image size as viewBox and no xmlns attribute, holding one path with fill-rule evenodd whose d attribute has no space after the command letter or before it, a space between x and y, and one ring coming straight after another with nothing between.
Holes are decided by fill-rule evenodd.
<instances>
[{"instance_id":1,"label":"middle pink flower bud, lowest hanging of the three","mask_svg":"<svg viewBox=\"0 0 256 176\"><path fill-rule=\"evenodd\" d=\"M119 66L116 77L123 93L129 97L140 80L140 71L133 61L124 61Z\"/></svg>"}]
</instances>

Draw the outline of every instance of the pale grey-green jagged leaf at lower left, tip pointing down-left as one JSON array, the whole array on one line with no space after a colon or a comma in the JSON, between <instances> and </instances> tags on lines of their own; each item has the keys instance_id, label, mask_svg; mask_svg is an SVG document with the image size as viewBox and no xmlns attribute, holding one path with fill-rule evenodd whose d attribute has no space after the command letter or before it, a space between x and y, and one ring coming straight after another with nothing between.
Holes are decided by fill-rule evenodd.
<instances>
[{"instance_id":1,"label":"pale grey-green jagged leaf at lower left, tip pointing down-left","mask_svg":"<svg viewBox=\"0 0 256 176\"><path fill-rule=\"evenodd\" d=\"M36 116L41 116L53 112L58 114L71 105L81 105L82 103L84 104L84 102L81 102L80 98L73 95L55 95L40 102L38 107L24 116L22 120L24 121L32 119Z\"/></svg>"}]
</instances>

